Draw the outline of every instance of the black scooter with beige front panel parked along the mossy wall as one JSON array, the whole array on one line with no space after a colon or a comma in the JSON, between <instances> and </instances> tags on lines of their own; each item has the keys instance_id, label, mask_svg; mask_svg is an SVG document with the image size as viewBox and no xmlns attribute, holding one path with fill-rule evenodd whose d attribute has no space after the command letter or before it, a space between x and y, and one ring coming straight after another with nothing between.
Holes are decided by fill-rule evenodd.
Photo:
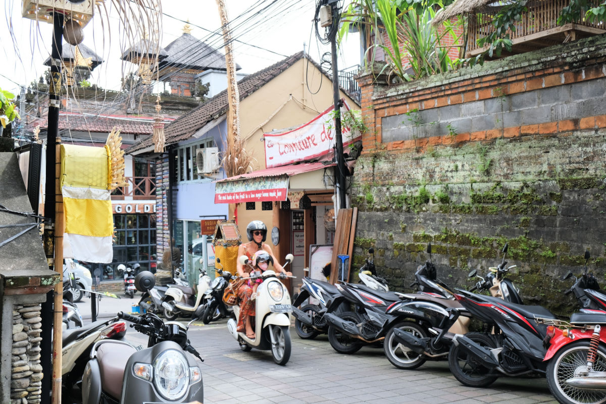
<instances>
[{"instance_id":1,"label":"black scooter with beige front panel parked along the mossy wall","mask_svg":"<svg viewBox=\"0 0 606 404\"><path fill-rule=\"evenodd\" d=\"M501 297L514 303L521 302L518 289L511 280L504 277L512 265L507 267L505 255L508 245L502 250L502 260L498 267L488 268L488 274L480 277L471 291L487 290L494 297ZM431 243L427 246L430 260L419 267L415 273L415 282L422 291L407 294L401 302L395 303L387 314L407 313L414 323L405 320L395 325L385 336L385 356L397 368L415 369L426 360L445 359L450 344L456 334L467 334L470 324L470 313L454 299L453 292L444 282L436 277L436 268L431 263ZM469 277L476 276L473 270ZM431 278L431 279L430 279Z\"/></svg>"}]
</instances>

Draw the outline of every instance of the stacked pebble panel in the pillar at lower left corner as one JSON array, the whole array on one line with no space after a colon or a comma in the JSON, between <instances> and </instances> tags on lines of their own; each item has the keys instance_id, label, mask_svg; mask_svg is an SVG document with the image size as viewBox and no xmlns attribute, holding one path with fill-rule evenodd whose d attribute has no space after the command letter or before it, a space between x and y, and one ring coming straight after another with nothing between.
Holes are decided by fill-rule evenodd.
<instances>
[{"instance_id":1,"label":"stacked pebble panel in the pillar at lower left corner","mask_svg":"<svg viewBox=\"0 0 606 404\"><path fill-rule=\"evenodd\" d=\"M10 381L11 404L41 402L42 365L40 342L42 319L39 303L13 306L12 373Z\"/></svg>"}]
</instances>

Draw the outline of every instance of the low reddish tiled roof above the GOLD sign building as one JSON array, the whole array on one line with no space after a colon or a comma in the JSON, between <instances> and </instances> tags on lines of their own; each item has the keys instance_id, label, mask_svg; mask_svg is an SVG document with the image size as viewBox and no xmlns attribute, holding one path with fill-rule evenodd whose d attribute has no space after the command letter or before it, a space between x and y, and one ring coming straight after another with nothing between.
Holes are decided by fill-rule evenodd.
<instances>
[{"instance_id":1,"label":"low reddish tiled roof above the GOLD sign building","mask_svg":"<svg viewBox=\"0 0 606 404\"><path fill-rule=\"evenodd\" d=\"M141 116L89 116L70 112L59 113L59 130L110 133L112 128L116 127L121 133L146 135L151 134L152 124L153 118ZM38 125L41 130L46 130L48 118L37 118L27 126L35 128Z\"/></svg>"}]
</instances>

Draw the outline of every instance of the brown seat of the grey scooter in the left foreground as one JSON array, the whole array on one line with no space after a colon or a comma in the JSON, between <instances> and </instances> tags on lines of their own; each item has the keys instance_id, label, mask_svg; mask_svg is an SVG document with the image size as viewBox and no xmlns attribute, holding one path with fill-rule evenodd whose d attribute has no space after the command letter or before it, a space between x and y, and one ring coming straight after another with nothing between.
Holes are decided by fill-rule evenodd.
<instances>
[{"instance_id":1,"label":"brown seat of the grey scooter in the left foreground","mask_svg":"<svg viewBox=\"0 0 606 404\"><path fill-rule=\"evenodd\" d=\"M104 343L97 349L97 360L101 372L103 390L118 401L122 399L124 369L132 354L137 350L121 343Z\"/></svg>"}]
</instances>

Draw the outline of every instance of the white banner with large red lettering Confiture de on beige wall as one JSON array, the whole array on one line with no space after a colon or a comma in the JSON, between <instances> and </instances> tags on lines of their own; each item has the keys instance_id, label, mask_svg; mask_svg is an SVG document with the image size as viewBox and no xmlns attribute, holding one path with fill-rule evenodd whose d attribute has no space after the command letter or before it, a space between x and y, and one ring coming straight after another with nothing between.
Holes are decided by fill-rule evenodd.
<instances>
[{"instance_id":1,"label":"white banner with large red lettering Confiture de on beige wall","mask_svg":"<svg viewBox=\"0 0 606 404\"><path fill-rule=\"evenodd\" d=\"M328 154L335 146L334 109L334 106L328 108L313 121L294 130L279 134L265 133L265 167L279 167ZM342 109L348 111L350 108L344 103ZM341 134L344 146L355 140L346 125L342 125Z\"/></svg>"}]
</instances>

